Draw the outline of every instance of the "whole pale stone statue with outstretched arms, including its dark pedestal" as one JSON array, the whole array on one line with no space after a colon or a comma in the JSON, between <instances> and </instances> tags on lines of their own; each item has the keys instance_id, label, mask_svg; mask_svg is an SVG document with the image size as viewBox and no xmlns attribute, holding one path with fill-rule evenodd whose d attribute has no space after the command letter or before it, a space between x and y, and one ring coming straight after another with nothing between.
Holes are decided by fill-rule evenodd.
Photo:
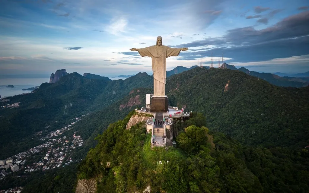
<instances>
[{"instance_id":1,"label":"whole pale stone statue with outstretched arms, including its dark pedestal","mask_svg":"<svg viewBox=\"0 0 309 193\"><path fill-rule=\"evenodd\" d=\"M165 95L166 80L166 58L178 56L180 51L188 48L170 48L162 45L162 37L157 37L157 44L146 48L131 48L131 51L138 51L142 56L151 57L151 66L154 76L154 94L150 97L150 112L167 112L168 100ZM146 97L147 104L147 97ZM146 107L147 108L147 107Z\"/></svg>"}]
</instances>

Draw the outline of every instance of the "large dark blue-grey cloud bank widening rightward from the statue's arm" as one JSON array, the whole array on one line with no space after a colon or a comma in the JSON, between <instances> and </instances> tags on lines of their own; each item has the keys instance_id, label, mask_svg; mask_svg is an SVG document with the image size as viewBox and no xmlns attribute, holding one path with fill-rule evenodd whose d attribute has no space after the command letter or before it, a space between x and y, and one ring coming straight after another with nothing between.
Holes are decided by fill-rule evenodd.
<instances>
[{"instance_id":1,"label":"large dark blue-grey cloud bank widening rightward from the statue's arm","mask_svg":"<svg viewBox=\"0 0 309 193\"><path fill-rule=\"evenodd\" d=\"M202 47L193 52L180 52L176 60L195 60L198 57L215 57L224 53L225 57L234 58L230 61L265 61L274 58L293 57L309 54L309 11L291 15L264 29L252 26L228 30L218 38L205 38L187 44L171 47ZM191 49L190 49L191 50ZM204 60L203 60L204 61Z\"/></svg>"}]
</instances>

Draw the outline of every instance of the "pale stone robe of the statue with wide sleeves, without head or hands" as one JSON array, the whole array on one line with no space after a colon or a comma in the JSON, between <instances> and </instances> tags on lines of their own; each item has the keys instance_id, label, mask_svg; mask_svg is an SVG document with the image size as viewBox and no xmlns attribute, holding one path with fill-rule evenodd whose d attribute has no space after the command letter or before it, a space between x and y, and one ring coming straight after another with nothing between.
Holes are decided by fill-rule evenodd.
<instances>
[{"instance_id":1,"label":"pale stone robe of the statue with wide sleeves, without head or hands","mask_svg":"<svg viewBox=\"0 0 309 193\"><path fill-rule=\"evenodd\" d=\"M165 96L166 58L178 56L180 48L154 45L137 50L142 57L148 56L152 59L151 66L154 73L154 96Z\"/></svg>"}]
</instances>

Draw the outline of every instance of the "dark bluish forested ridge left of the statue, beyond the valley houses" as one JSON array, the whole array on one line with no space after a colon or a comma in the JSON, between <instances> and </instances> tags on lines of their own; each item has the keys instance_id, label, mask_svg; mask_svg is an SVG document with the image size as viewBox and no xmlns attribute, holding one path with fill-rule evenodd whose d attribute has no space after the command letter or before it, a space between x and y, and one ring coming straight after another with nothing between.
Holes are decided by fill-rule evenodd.
<instances>
[{"instance_id":1,"label":"dark bluish forested ridge left of the statue, beyond the valley houses","mask_svg":"<svg viewBox=\"0 0 309 193\"><path fill-rule=\"evenodd\" d=\"M18 108L0 108L0 160L42 143L32 139L36 132L55 130L76 116L117 103L133 88L152 85L153 78L146 73L113 81L70 73L56 83L41 84L32 93L0 100L0 107L19 103Z\"/></svg>"}]
</instances>

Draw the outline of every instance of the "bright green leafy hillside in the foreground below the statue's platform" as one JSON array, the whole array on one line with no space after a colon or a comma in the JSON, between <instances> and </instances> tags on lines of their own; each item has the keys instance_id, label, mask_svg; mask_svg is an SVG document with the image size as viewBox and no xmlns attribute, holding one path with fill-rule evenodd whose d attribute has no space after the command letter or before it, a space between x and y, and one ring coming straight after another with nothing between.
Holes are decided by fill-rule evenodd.
<instances>
[{"instance_id":1,"label":"bright green leafy hillside in the foreground below the statue's platform","mask_svg":"<svg viewBox=\"0 0 309 193\"><path fill-rule=\"evenodd\" d=\"M131 115L98 135L98 144L78 166L78 179L95 178L97 192L142 192L147 186L167 193L296 193L309 188L305 149L242 146L223 133L209 132L197 121L202 115L177 123L178 148L151 149L143 123L125 130Z\"/></svg>"}]
</instances>

